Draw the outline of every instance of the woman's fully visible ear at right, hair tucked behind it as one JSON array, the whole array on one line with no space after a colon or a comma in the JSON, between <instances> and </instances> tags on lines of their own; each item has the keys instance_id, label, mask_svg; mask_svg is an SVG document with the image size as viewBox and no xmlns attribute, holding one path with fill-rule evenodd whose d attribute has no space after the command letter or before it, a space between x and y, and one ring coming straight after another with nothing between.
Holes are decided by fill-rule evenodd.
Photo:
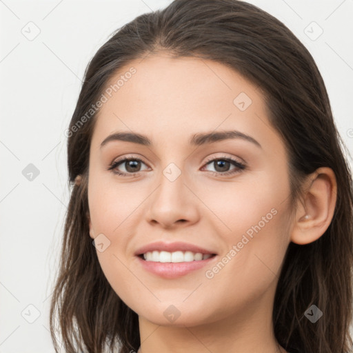
<instances>
[{"instance_id":1,"label":"woman's fully visible ear at right, hair tucked behind it","mask_svg":"<svg viewBox=\"0 0 353 353\"><path fill-rule=\"evenodd\" d=\"M303 245L319 239L332 221L336 197L336 177L331 168L319 168L310 174L303 202L296 210L290 240Z\"/></svg>"}]
</instances>

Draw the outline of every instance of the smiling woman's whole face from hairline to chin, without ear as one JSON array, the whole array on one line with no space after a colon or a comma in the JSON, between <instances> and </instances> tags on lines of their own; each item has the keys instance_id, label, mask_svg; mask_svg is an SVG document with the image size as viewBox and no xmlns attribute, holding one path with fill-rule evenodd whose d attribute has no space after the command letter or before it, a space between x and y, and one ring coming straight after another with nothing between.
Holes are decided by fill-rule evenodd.
<instances>
[{"instance_id":1,"label":"smiling woman's whole face from hairline to chin, without ear","mask_svg":"<svg viewBox=\"0 0 353 353\"><path fill-rule=\"evenodd\" d=\"M272 312L290 242L290 185L285 147L261 92L221 63L166 55L132 61L110 83L119 79L102 100L88 183L90 236L98 236L110 285L159 325ZM225 131L234 133L224 138ZM143 135L150 145L105 141L118 132ZM132 161L114 165L124 158ZM170 252L154 252L153 261L137 256L157 241L216 255L185 261L184 244L170 249L182 251L172 255L179 263L160 262Z\"/></svg>"}]
</instances>

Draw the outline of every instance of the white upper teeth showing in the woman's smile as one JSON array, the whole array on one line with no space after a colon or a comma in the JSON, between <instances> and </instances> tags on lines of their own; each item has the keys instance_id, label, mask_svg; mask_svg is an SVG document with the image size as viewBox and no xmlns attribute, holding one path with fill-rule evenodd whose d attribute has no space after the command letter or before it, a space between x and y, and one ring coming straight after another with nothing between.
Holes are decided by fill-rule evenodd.
<instances>
[{"instance_id":1,"label":"white upper teeth showing in the woman's smile","mask_svg":"<svg viewBox=\"0 0 353 353\"><path fill-rule=\"evenodd\" d=\"M167 252L167 251L149 251L143 254L143 258L146 261L154 262L191 262L191 261L200 261L209 259L211 254L201 254L201 252L191 252L191 251L176 251L176 252Z\"/></svg>"}]
</instances>

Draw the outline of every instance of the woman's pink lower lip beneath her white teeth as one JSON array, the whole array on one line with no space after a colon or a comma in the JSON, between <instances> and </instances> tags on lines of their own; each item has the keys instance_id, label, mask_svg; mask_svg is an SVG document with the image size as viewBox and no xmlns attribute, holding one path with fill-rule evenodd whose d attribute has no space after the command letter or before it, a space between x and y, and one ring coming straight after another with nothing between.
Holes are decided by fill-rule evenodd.
<instances>
[{"instance_id":1,"label":"woman's pink lower lip beneath her white teeth","mask_svg":"<svg viewBox=\"0 0 353 353\"><path fill-rule=\"evenodd\" d=\"M189 262L177 262L177 263L166 263L166 262L155 262L155 261L145 261L137 256L141 265L148 272L157 274L164 279L176 279L178 277L184 276L194 270L199 270L203 266L208 265L211 261L216 258L215 256L209 257L205 260L199 261L189 261Z\"/></svg>"}]
</instances>

